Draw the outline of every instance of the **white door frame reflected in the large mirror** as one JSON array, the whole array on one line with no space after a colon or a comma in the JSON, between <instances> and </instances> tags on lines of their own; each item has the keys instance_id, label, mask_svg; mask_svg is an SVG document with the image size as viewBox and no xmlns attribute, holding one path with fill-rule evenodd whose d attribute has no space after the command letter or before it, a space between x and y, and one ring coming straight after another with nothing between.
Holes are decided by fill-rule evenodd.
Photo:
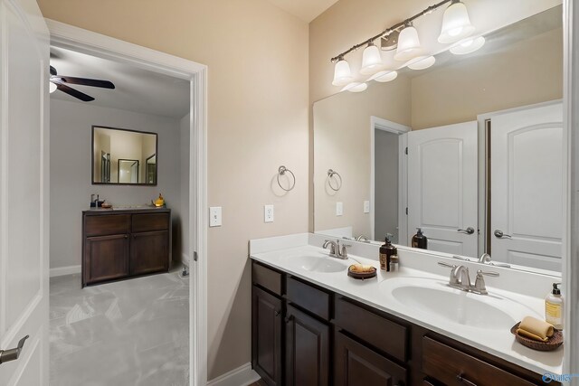
<instances>
[{"instance_id":1,"label":"white door frame reflected in the large mirror","mask_svg":"<svg viewBox=\"0 0 579 386\"><path fill-rule=\"evenodd\" d=\"M408 217L405 208L408 206L408 158L405 149L408 146L407 133L411 127L392 122L388 119L370 117L370 233L371 240L375 237L375 130L383 130L398 135L398 243L406 245L408 239ZM404 240L401 241L401 240Z\"/></svg>"}]
</instances>

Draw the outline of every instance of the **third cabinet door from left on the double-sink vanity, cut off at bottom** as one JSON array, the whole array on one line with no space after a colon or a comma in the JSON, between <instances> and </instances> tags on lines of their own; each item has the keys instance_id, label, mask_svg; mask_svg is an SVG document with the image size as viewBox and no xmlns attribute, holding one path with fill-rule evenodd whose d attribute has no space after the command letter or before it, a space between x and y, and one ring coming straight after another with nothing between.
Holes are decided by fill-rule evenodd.
<instances>
[{"instance_id":1,"label":"third cabinet door from left on the double-sink vanity, cut off at bottom","mask_svg":"<svg viewBox=\"0 0 579 386\"><path fill-rule=\"evenodd\" d=\"M379 353L336 333L336 386L394 386L406 384L406 370Z\"/></svg>"}]
</instances>

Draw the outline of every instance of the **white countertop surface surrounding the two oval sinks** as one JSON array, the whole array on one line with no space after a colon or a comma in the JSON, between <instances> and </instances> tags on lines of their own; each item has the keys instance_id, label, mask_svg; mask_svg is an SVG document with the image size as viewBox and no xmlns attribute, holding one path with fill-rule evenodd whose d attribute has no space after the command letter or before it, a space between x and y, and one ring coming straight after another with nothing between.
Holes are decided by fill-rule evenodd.
<instances>
[{"instance_id":1,"label":"white countertop surface surrounding the two oval sinks","mask_svg":"<svg viewBox=\"0 0 579 386\"><path fill-rule=\"evenodd\" d=\"M381 271L377 259L366 259L360 256L350 255L352 259L356 259L362 264L370 264L375 266L377 268L377 278L366 280L349 278L347 276L346 270L334 273L312 272L303 268L299 268L299 266L296 264L289 263L289 259L312 253L323 253L327 255L327 249L321 249L319 247L308 245L307 238L305 239L306 243L304 244L303 237L292 237L293 240L290 240L291 242L289 243L285 242L285 245L283 242L280 244L271 242L269 240L266 240L265 242L261 242L261 240L252 240L258 241L258 244L260 245L258 248L252 248L251 244L252 250L250 251L250 257L254 260L261 261L262 263L265 263L273 268L278 268L284 272L287 272L292 276L305 279L308 282L318 285L319 287L327 288L333 292L336 292L337 294L344 295L364 303L367 306L375 307L376 309L403 318L404 320L407 320L413 324L421 325L439 334L449 336L463 344L469 344L470 346L478 348L481 351L493 354L508 362L513 362L532 372L537 372L539 374L546 372L554 374L562 373L563 346L559 347L553 352L539 352L531 350L522 344L517 343L515 337L509 331L512 325L505 325L504 328L501 326L500 328L496 329L487 329L476 328L468 325L451 324L442 318L428 315L428 313L424 310L419 310L417 308L413 308L412 306L405 306L394 297L388 296L387 289L384 291L384 288L388 288L390 283L400 282L400 280L389 282L389 280L392 278L431 278L433 282L448 283L448 275L441 276L438 274L446 271L450 272L448 268L435 271L436 274L426 272L421 269L409 268L416 266L416 262L414 262L414 264L410 264L410 260L412 258L409 257L408 253L400 253L401 251L399 250L401 267L399 271L395 273ZM275 249L276 244L277 247L281 248ZM318 242L316 242L316 245L317 244ZM255 245L257 244L254 242L253 246ZM328 257L328 259L335 258ZM407 259L408 267L404 266L405 259ZM432 260L438 261L441 259L444 258L437 258ZM454 260L451 262L456 263L457 261ZM350 262L350 264L351 263L354 263L354 261ZM434 262L434 264L436 263ZM493 268L492 270L500 269ZM523 293L516 293L498 287L491 287L489 282L498 282L497 279L499 278L492 279L495 281L487 279L487 288L489 290L488 296L464 293L459 289L451 290L465 294L463 295L465 297L476 297L476 300L480 301L486 301L484 298L489 297L489 302L492 301L495 302L495 304L500 301L500 298L510 299L520 306L508 307L508 310L503 311L515 318L517 322L526 315L533 315L537 318L542 317L545 306L543 298L528 296ZM523 286L528 286L527 280L525 283L523 283ZM548 278L547 280L544 279L543 281L548 281ZM541 286L544 285L543 282L540 284Z\"/></svg>"}]
</instances>

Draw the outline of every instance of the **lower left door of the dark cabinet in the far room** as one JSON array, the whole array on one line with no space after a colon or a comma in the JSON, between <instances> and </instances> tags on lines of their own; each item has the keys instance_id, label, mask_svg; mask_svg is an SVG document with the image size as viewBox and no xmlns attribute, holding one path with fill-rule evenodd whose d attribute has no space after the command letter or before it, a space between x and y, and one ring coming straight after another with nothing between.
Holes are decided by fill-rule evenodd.
<instances>
[{"instance_id":1,"label":"lower left door of the dark cabinet in the far room","mask_svg":"<svg viewBox=\"0 0 579 386\"><path fill-rule=\"evenodd\" d=\"M88 237L84 244L82 285L128 276L128 235Z\"/></svg>"}]
</instances>

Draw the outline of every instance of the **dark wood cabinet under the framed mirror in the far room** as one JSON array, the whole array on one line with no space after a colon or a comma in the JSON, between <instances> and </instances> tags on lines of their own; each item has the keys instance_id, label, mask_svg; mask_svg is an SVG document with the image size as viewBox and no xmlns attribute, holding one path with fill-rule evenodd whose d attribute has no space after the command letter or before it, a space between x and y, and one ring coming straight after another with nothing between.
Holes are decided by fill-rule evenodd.
<instances>
[{"instance_id":1,"label":"dark wood cabinet under the framed mirror in the far room","mask_svg":"<svg viewBox=\"0 0 579 386\"><path fill-rule=\"evenodd\" d=\"M170 209L82 212L82 287L167 272L170 266Z\"/></svg>"}]
</instances>

